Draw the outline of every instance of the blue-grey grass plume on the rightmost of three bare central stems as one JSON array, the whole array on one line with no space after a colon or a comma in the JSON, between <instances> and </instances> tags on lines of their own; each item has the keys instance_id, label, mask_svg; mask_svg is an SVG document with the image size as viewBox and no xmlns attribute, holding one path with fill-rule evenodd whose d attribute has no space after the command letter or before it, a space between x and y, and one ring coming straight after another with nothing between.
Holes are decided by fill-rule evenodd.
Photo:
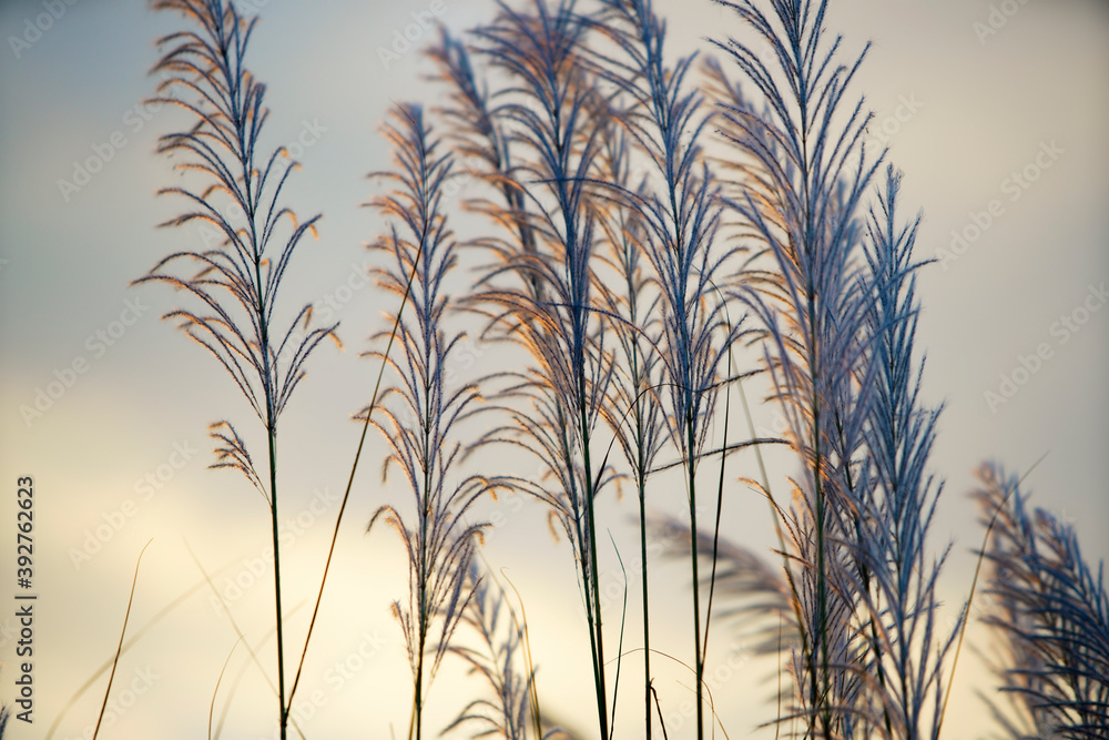
<instances>
[{"instance_id":1,"label":"blue-grey grass plume on the rightmost of three bare central stems","mask_svg":"<svg viewBox=\"0 0 1109 740\"><path fill-rule=\"evenodd\" d=\"M624 190L642 223L641 250L659 291L667 430L682 460L690 527L698 529L698 470L716 408L720 366L737 327L729 325L716 281L735 247L715 240L720 200L701 139L710 115L700 91L686 81L693 58L671 68L663 57L665 26L643 0L601 3L598 23L618 52L600 55L606 79L622 92L620 121L655 175L638 191ZM653 185L653 186L652 186ZM641 514L641 537L645 527ZM704 737L704 652L698 543L691 540L693 666L698 737ZM644 548L645 553L645 548ZM645 568L644 568L645 572ZM708 616L705 616L708 629ZM648 649L644 649L649 653ZM649 675L649 673L648 673ZM647 733L650 737L650 708Z\"/></svg>"}]
</instances>

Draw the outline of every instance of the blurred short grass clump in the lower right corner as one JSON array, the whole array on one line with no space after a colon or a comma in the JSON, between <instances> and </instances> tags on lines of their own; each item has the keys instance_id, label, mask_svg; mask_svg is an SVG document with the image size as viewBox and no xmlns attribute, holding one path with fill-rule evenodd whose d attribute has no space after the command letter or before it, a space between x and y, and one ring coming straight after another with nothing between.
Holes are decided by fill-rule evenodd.
<instances>
[{"instance_id":1,"label":"blurred short grass clump in the lower right corner","mask_svg":"<svg viewBox=\"0 0 1109 740\"><path fill-rule=\"evenodd\" d=\"M997 638L993 662L1011 738L1105 738L1109 732L1109 595L1102 569L1082 558L1074 527L1044 508L996 465L978 470L974 497L993 538L984 557Z\"/></svg>"}]
</instances>

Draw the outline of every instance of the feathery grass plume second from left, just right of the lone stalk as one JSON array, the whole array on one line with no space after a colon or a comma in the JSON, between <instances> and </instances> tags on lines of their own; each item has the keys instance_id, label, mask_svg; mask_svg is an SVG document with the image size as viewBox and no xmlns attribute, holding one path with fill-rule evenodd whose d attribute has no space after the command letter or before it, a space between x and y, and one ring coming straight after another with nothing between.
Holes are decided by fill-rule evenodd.
<instances>
[{"instance_id":1,"label":"feathery grass plume second from left, just right of the lone stalk","mask_svg":"<svg viewBox=\"0 0 1109 740\"><path fill-rule=\"evenodd\" d=\"M376 274L387 294L410 296L414 316L407 321L388 317L397 327L399 356L370 353L399 376L398 385L381 396L383 401L395 396L397 404L384 405L384 420L373 423L390 448L385 473L399 468L411 488L416 514L409 523L396 507L384 505L369 528L383 517L400 536L408 555L408 604L395 601L393 612L404 631L413 671L408 737L418 740L424 737L427 691L472 594L472 585L464 587L482 525L469 523L467 515L496 484L479 475L456 476L461 444L452 434L454 426L469 415L478 393L472 384L451 388L446 382L462 338L444 326L450 308L444 282L455 266L455 241L441 210L450 158L440 153L438 140L415 105L394 112L385 136L393 145L395 170L383 176L395 186L373 204L394 225L374 247L394 264ZM391 339L394 333L387 334ZM439 635L433 643L436 622Z\"/></svg>"}]
</instances>

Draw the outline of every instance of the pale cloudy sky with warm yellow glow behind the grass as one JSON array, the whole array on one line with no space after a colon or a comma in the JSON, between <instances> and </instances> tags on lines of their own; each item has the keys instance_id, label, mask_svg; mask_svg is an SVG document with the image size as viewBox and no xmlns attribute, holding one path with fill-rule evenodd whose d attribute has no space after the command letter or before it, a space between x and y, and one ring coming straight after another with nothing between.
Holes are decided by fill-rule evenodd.
<instances>
[{"instance_id":1,"label":"pale cloudy sky with warm yellow glow behind the grass","mask_svg":"<svg viewBox=\"0 0 1109 740\"><path fill-rule=\"evenodd\" d=\"M492 3L248 6L262 14L250 63L268 85L267 141L297 150L302 164L288 202L302 217L323 214L286 290L340 321L345 343L342 352L319 351L283 420L283 577L295 609L289 651L298 652L357 445L359 428L348 419L376 373L358 355L390 310L362 280L372 264L363 244L381 226L359 207L379 192L366 174L388 164L378 129L390 101L435 102L417 50L431 30L417 23L413 43L400 39L420 13L438 11L462 30L488 19ZM670 19L675 53L740 33L737 19L709 2L657 8ZM130 286L197 240L157 229L180 203L155 195L176 178L155 153L156 139L181 118L144 102L156 82L147 74L154 39L179 23L139 0L0 3L0 521L11 523L0 526L0 547L14 553L17 479L31 476L38 594L34 723L12 721L16 740L45 738L52 724L54 738L91 737L106 686L98 671L114 655L147 540L128 629L138 639L121 658L119 702L101 737L206 731L225 660L215 707L218 717L234 686L227 737L272 737L273 695L201 571L213 575L247 642L261 645L272 667L265 503L237 476L207 469L206 430L230 418L248 442L264 438L226 376L159 321L175 296ZM917 345L927 353L926 399L944 404L933 467L946 484L932 530L937 553L952 548L942 595L954 610L969 589L981 527L966 493L985 459L1022 474L1042 458L1025 483L1034 503L1076 528L1090 560L1105 558L1109 4L840 0L828 27L848 50L873 42L856 92L875 113L873 138L904 172L903 203L924 214L918 255L936 259L922 272ZM474 354L475 372L502 359L491 348ZM770 409L755 413L756 425L773 426ZM305 663L298 697L307 703L298 710L309 738L384 738L407 723L406 658L388 614L407 587L406 566L395 537L364 533L379 505L403 500L399 486L379 485L383 455L370 439ZM737 467L751 465L737 458ZM676 514L676 504L662 500L659 510ZM601 507L621 548L634 547L625 524L632 510L629 499ZM591 688L568 547L548 536L536 501L506 496L484 513L498 523L485 557L505 569L527 608L545 706L572 723L590 706ZM735 541L763 553L771 546L769 514L754 494L736 489L724 523ZM12 561L6 556L0 572L0 699L9 703L20 662ZM607 567L615 579L613 558ZM653 592L684 605L683 576L680 565L652 565ZM619 606L609 615L618 621ZM686 619L683 609L662 610L652 640L685 650ZM639 643L634 622L628 645ZM726 697L724 727L732 738L771 737L755 726L769 718L772 667L720 635L711 663ZM985 648L980 631L970 639ZM973 655L965 660L945 728L953 740L990 727L975 696L989 678ZM625 686L639 680L635 667L631 660ZM668 711L681 713L688 673L659 670ZM434 726L474 690L474 679L446 663L431 693ZM637 716L632 696L621 695L628 717ZM689 728L675 722L671 737L690 737Z\"/></svg>"}]
</instances>

